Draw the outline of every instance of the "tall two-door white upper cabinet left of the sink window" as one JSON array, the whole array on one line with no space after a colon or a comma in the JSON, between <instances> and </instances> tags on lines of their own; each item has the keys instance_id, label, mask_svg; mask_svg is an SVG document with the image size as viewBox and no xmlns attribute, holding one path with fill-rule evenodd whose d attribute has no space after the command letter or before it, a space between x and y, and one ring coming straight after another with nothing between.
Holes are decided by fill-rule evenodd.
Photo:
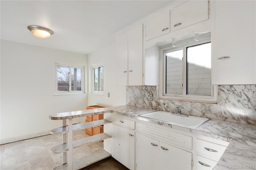
<instances>
[{"instance_id":1,"label":"tall two-door white upper cabinet left of the sink window","mask_svg":"<svg viewBox=\"0 0 256 170\"><path fill-rule=\"evenodd\" d=\"M143 26L116 36L116 85L138 86L143 81Z\"/></svg>"}]
</instances>

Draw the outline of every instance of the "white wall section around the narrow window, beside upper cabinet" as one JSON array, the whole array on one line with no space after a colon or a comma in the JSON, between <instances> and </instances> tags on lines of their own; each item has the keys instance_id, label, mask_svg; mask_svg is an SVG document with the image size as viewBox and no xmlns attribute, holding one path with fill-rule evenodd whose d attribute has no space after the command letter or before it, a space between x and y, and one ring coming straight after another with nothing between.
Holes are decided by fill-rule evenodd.
<instances>
[{"instance_id":1,"label":"white wall section around the narrow window, beside upper cabinet","mask_svg":"<svg viewBox=\"0 0 256 170\"><path fill-rule=\"evenodd\" d=\"M88 55L88 78L91 83L91 65L103 63L104 65L104 94L91 94L88 89L88 105L104 107L126 105L126 87L115 85L115 45L110 44ZM108 97L110 93L110 97Z\"/></svg>"}]
</instances>

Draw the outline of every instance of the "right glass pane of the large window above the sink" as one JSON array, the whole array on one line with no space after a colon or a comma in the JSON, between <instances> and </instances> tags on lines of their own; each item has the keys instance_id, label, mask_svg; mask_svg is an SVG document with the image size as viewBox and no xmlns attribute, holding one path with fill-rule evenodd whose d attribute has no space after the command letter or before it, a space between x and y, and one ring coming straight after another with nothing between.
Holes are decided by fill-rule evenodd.
<instances>
[{"instance_id":1,"label":"right glass pane of the large window above the sink","mask_svg":"<svg viewBox=\"0 0 256 170\"><path fill-rule=\"evenodd\" d=\"M211 43L187 48L187 94L211 96Z\"/></svg>"}]
</instances>

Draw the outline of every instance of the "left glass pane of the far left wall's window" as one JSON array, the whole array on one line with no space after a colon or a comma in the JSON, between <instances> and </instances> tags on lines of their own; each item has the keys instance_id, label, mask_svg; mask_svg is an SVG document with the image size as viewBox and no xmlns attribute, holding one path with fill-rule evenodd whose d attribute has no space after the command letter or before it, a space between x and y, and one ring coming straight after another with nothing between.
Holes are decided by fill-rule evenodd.
<instances>
[{"instance_id":1,"label":"left glass pane of the far left wall's window","mask_svg":"<svg viewBox=\"0 0 256 170\"><path fill-rule=\"evenodd\" d=\"M69 68L58 67L58 91L69 91Z\"/></svg>"}]
</instances>

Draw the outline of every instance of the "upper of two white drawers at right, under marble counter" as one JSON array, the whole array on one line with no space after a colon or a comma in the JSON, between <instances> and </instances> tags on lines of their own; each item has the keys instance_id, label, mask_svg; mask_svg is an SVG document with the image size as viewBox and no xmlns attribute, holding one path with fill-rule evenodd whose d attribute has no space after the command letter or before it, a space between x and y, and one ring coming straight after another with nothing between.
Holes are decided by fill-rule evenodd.
<instances>
[{"instance_id":1,"label":"upper of two white drawers at right, under marble counter","mask_svg":"<svg viewBox=\"0 0 256 170\"><path fill-rule=\"evenodd\" d=\"M215 160L219 160L224 151L226 150L226 146L208 142L206 140L196 139L196 151Z\"/></svg>"}]
</instances>

